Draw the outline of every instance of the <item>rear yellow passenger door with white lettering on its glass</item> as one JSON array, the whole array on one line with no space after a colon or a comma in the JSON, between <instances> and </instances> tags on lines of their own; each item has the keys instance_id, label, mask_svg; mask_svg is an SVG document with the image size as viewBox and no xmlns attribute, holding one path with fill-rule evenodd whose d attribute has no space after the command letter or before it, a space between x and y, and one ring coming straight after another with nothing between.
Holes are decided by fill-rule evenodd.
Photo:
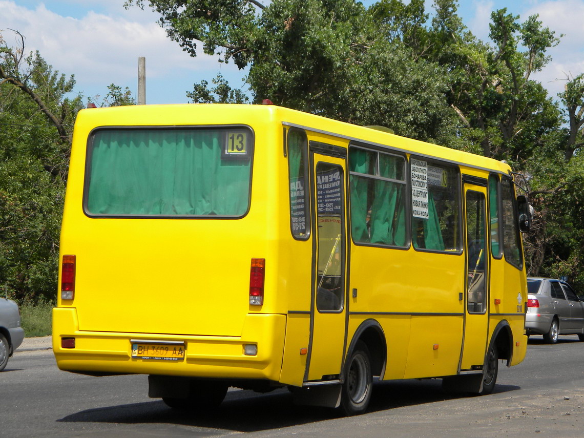
<instances>
[{"instance_id":1,"label":"rear yellow passenger door with white lettering on its glass","mask_svg":"<svg viewBox=\"0 0 584 438\"><path fill-rule=\"evenodd\" d=\"M346 345L345 159L315 153L313 144L311 150L313 282L304 380L336 380Z\"/></svg>"}]
</instances>

